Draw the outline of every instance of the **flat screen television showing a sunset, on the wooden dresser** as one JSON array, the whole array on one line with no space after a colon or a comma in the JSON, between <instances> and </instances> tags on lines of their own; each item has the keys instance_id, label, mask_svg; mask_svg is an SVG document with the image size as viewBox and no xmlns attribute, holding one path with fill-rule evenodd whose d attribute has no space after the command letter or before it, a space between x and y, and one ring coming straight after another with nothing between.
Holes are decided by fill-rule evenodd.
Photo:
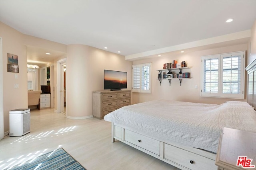
<instances>
[{"instance_id":1,"label":"flat screen television showing a sunset, on the wooden dresser","mask_svg":"<svg viewBox=\"0 0 256 170\"><path fill-rule=\"evenodd\" d=\"M104 70L104 89L121 90L127 88L127 72Z\"/></svg>"}]
</instances>

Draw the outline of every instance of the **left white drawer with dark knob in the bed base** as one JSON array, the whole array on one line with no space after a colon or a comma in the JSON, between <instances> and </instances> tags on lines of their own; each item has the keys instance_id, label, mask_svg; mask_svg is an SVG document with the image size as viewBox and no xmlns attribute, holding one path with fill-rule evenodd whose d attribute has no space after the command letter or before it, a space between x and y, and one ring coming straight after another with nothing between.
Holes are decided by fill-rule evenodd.
<instances>
[{"instance_id":1,"label":"left white drawer with dark knob in the bed base","mask_svg":"<svg viewBox=\"0 0 256 170\"><path fill-rule=\"evenodd\" d=\"M160 141L126 129L124 130L124 140L154 154L160 155Z\"/></svg>"}]
</instances>

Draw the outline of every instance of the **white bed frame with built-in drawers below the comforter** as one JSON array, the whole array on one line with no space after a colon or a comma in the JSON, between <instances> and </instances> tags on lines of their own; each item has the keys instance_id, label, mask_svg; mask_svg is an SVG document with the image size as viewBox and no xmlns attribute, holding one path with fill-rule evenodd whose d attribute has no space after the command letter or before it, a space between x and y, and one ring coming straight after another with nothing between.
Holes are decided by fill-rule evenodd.
<instances>
[{"instance_id":1,"label":"white bed frame with built-in drawers below the comforter","mask_svg":"<svg viewBox=\"0 0 256 170\"><path fill-rule=\"evenodd\" d=\"M216 154L193 147L160 141L112 122L112 142L117 139L182 170L217 170Z\"/></svg>"}]
</instances>

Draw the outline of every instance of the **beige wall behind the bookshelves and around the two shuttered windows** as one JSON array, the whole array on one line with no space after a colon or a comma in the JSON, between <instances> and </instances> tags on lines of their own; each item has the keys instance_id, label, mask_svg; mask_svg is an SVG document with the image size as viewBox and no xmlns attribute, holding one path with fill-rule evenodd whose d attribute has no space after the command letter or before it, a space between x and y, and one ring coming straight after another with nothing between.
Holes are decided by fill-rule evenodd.
<instances>
[{"instance_id":1,"label":"beige wall behind the bookshelves and around the two shuttered windows","mask_svg":"<svg viewBox=\"0 0 256 170\"><path fill-rule=\"evenodd\" d=\"M179 55L170 55L169 57L159 57L154 59L134 61L134 64L150 62L152 63L152 93L133 93L133 103L136 104L156 99L211 104L221 104L223 102L226 102L229 99L200 97L201 57L205 55L213 55L244 50L247 50L247 44L210 49L204 51L196 51L192 53L186 53L186 50L184 50L185 53L180 53ZM190 72L191 78L182 80L181 86L179 80L172 80L171 85L169 85L168 80L162 80L162 86L160 86L159 80L156 79L158 78L158 71L156 70L162 69L164 63L172 63L173 60L178 61L178 63L180 63L181 61L186 61L187 66L190 67L190 69L182 70L182 72ZM198 86L198 88L195 88L196 85Z\"/></svg>"}]
</instances>

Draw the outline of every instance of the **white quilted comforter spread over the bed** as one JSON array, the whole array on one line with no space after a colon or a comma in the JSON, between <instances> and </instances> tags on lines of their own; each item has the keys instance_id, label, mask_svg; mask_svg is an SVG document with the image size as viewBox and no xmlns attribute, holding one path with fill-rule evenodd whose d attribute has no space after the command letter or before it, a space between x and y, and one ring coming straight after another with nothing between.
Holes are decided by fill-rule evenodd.
<instances>
[{"instance_id":1,"label":"white quilted comforter spread over the bed","mask_svg":"<svg viewBox=\"0 0 256 170\"><path fill-rule=\"evenodd\" d=\"M222 127L256 133L256 111L246 102L200 104L155 100L122 107L104 120L161 141L217 152Z\"/></svg>"}]
</instances>

